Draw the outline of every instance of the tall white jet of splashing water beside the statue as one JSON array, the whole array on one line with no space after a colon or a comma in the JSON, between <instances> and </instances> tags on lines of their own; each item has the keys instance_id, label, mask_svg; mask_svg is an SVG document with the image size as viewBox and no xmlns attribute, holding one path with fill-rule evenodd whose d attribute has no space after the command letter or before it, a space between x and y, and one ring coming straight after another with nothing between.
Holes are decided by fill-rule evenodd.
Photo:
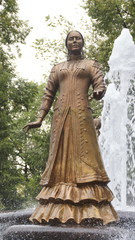
<instances>
[{"instance_id":1,"label":"tall white jet of splashing water beside the statue","mask_svg":"<svg viewBox=\"0 0 135 240\"><path fill-rule=\"evenodd\" d=\"M113 204L135 211L135 44L128 29L115 40L109 67L99 145Z\"/></svg>"}]
</instances>

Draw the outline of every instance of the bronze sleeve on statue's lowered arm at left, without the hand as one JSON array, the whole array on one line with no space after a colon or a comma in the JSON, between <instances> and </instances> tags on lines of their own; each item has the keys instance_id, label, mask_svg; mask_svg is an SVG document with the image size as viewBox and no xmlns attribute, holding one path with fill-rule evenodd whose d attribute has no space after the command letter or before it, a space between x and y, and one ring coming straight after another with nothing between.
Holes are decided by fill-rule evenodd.
<instances>
[{"instance_id":1,"label":"bronze sleeve on statue's lowered arm at left, without the hand","mask_svg":"<svg viewBox=\"0 0 135 240\"><path fill-rule=\"evenodd\" d=\"M40 110L44 110L46 113L51 108L51 105L53 103L55 94L58 90L58 78L55 67L52 68L48 83L42 98L42 104L40 106Z\"/></svg>"}]
</instances>

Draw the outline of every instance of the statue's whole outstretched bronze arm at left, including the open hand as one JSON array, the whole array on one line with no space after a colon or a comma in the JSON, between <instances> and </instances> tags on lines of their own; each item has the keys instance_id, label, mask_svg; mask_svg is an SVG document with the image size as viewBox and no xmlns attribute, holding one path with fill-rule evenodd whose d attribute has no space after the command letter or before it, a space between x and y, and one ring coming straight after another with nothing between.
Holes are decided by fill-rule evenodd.
<instances>
[{"instance_id":1,"label":"statue's whole outstretched bronze arm at left, including the open hand","mask_svg":"<svg viewBox=\"0 0 135 240\"><path fill-rule=\"evenodd\" d=\"M25 132L27 132L31 128L38 128L42 125L42 121L44 120L45 116L47 115L51 108L57 89L58 89L57 73L55 67L53 67L42 98L42 104L39 109L37 120L35 122L30 122L26 126L24 126L23 129Z\"/></svg>"}]
</instances>

